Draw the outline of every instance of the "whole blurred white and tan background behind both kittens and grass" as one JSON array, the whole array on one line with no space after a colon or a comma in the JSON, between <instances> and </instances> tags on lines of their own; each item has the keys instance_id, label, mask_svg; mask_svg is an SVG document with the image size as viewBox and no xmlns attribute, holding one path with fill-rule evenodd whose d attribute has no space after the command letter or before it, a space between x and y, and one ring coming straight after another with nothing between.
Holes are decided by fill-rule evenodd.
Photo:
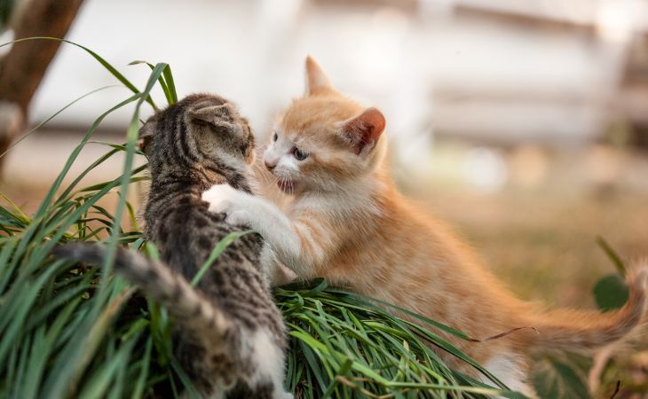
<instances>
[{"instance_id":1,"label":"whole blurred white and tan background behind both kittens and grass","mask_svg":"<svg viewBox=\"0 0 648 399\"><path fill-rule=\"evenodd\" d=\"M37 2L0 7L3 43L20 23L36 23L30 3ZM524 298L593 307L591 287L613 271L598 236L624 259L648 257L646 0L76 0L66 7L69 40L140 88L149 70L130 61L170 63L178 95L233 99L262 142L274 114L303 92L311 54L339 90L383 110L402 189L454 225ZM27 17L16 17L21 12ZM45 8L41 18L53 15ZM1 48L1 56L22 45ZM95 59L64 44L20 132L5 135L18 137L75 98L115 84ZM0 98L12 90L19 89L0 90ZM0 191L33 210L91 122L129 96L117 87L93 93L12 147ZM160 91L154 98L163 104ZM130 112L110 115L96 140L124 141ZM106 151L89 145L72 175ZM106 180L121 167L109 162L90 178Z\"/></svg>"}]
</instances>

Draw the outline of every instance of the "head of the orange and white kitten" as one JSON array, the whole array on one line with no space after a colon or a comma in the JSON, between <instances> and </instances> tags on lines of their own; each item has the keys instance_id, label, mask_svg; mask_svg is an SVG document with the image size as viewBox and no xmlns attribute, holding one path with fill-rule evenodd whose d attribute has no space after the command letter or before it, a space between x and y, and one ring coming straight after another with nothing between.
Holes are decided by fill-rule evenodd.
<instances>
[{"instance_id":1,"label":"head of the orange and white kitten","mask_svg":"<svg viewBox=\"0 0 648 399\"><path fill-rule=\"evenodd\" d=\"M335 190L378 168L385 152L383 113L337 92L306 59L306 92L280 115L264 153L284 192Z\"/></svg>"}]
</instances>

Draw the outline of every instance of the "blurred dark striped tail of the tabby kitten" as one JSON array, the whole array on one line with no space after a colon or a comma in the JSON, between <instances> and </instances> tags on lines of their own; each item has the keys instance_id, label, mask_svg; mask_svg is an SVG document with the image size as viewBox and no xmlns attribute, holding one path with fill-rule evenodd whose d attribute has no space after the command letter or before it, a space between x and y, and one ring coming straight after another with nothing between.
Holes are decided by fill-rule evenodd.
<instances>
[{"instance_id":1,"label":"blurred dark striped tail of the tabby kitten","mask_svg":"<svg viewBox=\"0 0 648 399\"><path fill-rule=\"evenodd\" d=\"M100 264L106 252L107 248L102 244L74 243L57 246L52 254L77 262ZM219 344L228 332L231 334L232 319L162 262L118 247L115 271L168 309L181 330L194 339Z\"/></svg>"}]
</instances>

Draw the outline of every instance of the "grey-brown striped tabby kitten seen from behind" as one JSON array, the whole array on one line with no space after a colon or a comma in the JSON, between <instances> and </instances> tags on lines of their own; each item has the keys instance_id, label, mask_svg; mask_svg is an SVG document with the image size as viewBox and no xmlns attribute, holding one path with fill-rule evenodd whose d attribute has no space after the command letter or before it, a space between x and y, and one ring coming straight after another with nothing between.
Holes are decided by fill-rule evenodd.
<instances>
[{"instance_id":1,"label":"grey-brown striped tabby kitten seen from behind","mask_svg":"<svg viewBox=\"0 0 648 399\"><path fill-rule=\"evenodd\" d=\"M187 283L220 239L247 229L210 213L201 194L227 184L251 195L248 121L225 98L193 95L154 114L140 138L152 178L145 234L162 262L120 250L115 270L169 309L177 324L176 355L202 395L291 398L283 390L286 335L261 262L263 239L236 239L197 288ZM105 247L62 246L58 254L100 262Z\"/></svg>"}]
</instances>

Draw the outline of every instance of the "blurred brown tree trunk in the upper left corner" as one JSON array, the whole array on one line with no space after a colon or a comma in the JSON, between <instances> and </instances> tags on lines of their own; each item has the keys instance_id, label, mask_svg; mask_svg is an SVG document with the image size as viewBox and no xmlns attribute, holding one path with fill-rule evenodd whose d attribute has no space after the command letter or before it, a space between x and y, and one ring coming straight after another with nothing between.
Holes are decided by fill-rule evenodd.
<instances>
[{"instance_id":1,"label":"blurred brown tree trunk in the upper left corner","mask_svg":"<svg viewBox=\"0 0 648 399\"><path fill-rule=\"evenodd\" d=\"M12 18L14 37L65 37L82 3L83 0L28 0ZM53 40L15 43L0 60L0 153L24 129L29 102L59 44Z\"/></svg>"}]
</instances>

